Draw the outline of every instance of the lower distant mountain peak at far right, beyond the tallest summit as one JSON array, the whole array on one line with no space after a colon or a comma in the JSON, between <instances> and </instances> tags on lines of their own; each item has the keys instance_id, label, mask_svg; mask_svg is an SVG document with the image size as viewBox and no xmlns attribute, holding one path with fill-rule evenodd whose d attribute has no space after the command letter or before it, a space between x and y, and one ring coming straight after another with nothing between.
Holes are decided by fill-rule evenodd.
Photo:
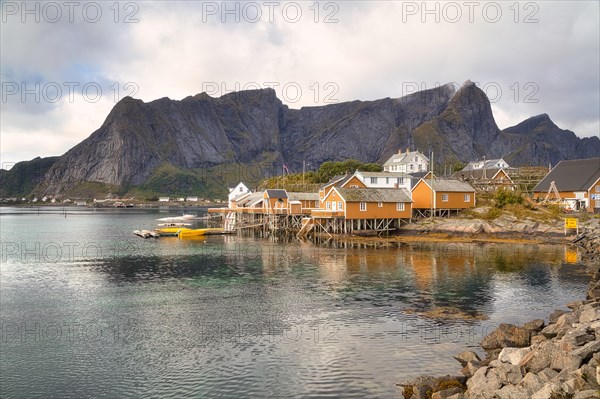
<instances>
[{"instance_id":1,"label":"lower distant mountain peak at far right, beyond the tallest summit","mask_svg":"<svg viewBox=\"0 0 600 399\"><path fill-rule=\"evenodd\" d=\"M560 129L547 114L526 119L504 129L489 150L514 165L555 165L563 159L591 158L600 154L600 139L580 139Z\"/></svg>"}]
</instances>

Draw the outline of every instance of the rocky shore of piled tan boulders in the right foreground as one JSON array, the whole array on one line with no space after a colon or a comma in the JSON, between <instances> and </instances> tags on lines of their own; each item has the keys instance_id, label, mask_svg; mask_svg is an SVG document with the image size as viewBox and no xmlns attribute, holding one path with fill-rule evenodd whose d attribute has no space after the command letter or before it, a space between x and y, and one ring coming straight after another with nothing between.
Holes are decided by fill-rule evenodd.
<instances>
[{"instance_id":1,"label":"rocky shore of piled tan boulders in the right foreground","mask_svg":"<svg viewBox=\"0 0 600 399\"><path fill-rule=\"evenodd\" d=\"M600 398L600 223L592 220L577 239L592 278L585 299L544 320L501 324L472 351L455 358L460 375L419 377L399 384L410 399Z\"/></svg>"}]
</instances>

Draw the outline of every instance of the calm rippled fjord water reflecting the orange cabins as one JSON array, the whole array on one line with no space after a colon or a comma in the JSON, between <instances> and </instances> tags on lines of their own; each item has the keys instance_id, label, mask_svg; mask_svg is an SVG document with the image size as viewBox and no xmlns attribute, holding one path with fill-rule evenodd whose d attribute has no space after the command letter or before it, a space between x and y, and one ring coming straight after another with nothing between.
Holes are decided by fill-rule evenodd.
<instances>
[{"instance_id":1,"label":"calm rippled fjord water reflecting the orange cabins","mask_svg":"<svg viewBox=\"0 0 600 399\"><path fill-rule=\"evenodd\" d=\"M0 214L3 398L398 397L588 280L561 245L143 240L175 211L62 211Z\"/></svg>"}]
</instances>

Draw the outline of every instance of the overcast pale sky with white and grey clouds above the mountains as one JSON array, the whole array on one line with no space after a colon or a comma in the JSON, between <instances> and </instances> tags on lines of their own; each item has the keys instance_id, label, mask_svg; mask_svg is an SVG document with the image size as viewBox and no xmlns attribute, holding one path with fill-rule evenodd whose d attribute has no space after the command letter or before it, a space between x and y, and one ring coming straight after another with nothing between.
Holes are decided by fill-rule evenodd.
<instances>
[{"instance_id":1,"label":"overcast pale sky with white and grey clouds above the mountains","mask_svg":"<svg viewBox=\"0 0 600 399\"><path fill-rule=\"evenodd\" d=\"M300 108L470 79L501 129L600 131L595 0L1 4L3 167L63 154L126 95L257 87Z\"/></svg>"}]
</instances>

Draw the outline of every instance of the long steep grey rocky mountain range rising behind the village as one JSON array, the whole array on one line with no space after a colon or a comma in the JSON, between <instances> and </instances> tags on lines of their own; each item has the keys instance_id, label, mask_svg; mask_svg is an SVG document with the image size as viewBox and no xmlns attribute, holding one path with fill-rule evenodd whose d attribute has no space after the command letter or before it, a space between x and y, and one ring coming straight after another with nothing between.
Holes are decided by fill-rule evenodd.
<instances>
[{"instance_id":1,"label":"long steep grey rocky mountain range rising behind the village","mask_svg":"<svg viewBox=\"0 0 600 399\"><path fill-rule=\"evenodd\" d=\"M51 166L36 192L64 194L93 182L111 191L223 195L226 184L279 174L283 163L293 172L348 158L383 163L409 147L433 150L436 163L486 156L547 165L597 155L600 140L579 139L547 115L500 131L488 98L470 81L459 90L448 84L301 109L272 89L149 103L127 97Z\"/></svg>"}]
</instances>

